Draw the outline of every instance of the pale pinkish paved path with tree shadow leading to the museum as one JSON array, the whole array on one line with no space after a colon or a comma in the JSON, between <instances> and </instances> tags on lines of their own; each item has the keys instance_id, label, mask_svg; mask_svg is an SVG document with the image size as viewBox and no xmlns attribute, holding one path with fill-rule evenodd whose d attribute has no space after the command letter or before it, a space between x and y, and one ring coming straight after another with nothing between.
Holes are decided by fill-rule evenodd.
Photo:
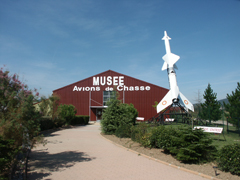
<instances>
[{"instance_id":1,"label":"pale pinkish paved path with tree shadow leading to the museum","mask_svg":"<svg viewBox=\"0 0 240 180\"><path fill-rule=\"evenodd\" d=\"M99 125L55 131L46 139L30 154L29 180L204 180L116 146L100 135Z\"/></svg>"}]
</instances>

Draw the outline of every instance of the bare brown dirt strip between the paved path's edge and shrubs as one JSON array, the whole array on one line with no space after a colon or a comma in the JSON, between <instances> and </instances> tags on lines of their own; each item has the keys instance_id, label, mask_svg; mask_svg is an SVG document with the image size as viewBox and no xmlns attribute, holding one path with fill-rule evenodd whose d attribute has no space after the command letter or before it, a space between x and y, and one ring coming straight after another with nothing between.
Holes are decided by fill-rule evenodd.
<instances>
[{"instance_id":1,"label":"bare brown dirt strip between the paved path's edge and shrubs","mask_svg":"<svg viewBox=\"0 0 240 180\"><path fill-rule=\"evenodd\" d=\"M167 162L169 164L183 167L185 169L189 169L195 172L203 173L208 176L217 178L217 179L223 179L223 180L240 180L239 176L232 175L231 173L222 172L220 170L217 170L217 176L215 175L215 171L213 169L213 166L216 166L214 163L207 163L207 164L184 164L173 158L171 155L163 153L161 149L156 148L144 148L139 143L136 143L132 141L130 138L118 138L115 135L105 135L101 134L106 139L109 139L113 143L119 144L121 146L124 146L128 149L131 149L133 151L138 152L139 154L145 154L147 156L150 156L155 159L159 159L161 161Z\"/></svg>"}]
</instances>

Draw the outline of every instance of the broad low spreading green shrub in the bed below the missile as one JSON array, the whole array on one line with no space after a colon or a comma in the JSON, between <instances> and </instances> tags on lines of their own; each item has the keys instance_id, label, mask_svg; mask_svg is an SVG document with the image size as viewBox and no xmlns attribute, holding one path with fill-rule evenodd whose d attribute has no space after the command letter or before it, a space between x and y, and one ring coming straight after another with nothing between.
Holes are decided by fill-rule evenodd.
<instances>
[{"instance_id":1,"label":"broad low spreading green shrub in the bed below the missile","mask_svg":"<svg viewBox=\"0 0 240 180\"><path fill-rule=\"evenodd\" d=\"M199 163L211 161L216 156L212 139L201 129L192 130L190 126L159 126L152 130L151 146L161 148L165 153L175 155L179 161Z\"/></svg>"}]
</instances>

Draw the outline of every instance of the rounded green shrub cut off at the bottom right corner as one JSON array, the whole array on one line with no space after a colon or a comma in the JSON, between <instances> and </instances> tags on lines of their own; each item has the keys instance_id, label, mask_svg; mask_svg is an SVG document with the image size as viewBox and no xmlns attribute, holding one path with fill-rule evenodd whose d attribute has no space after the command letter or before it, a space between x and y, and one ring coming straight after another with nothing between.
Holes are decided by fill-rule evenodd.
<instances>
[{"instance_id":1,"label":"rounded green shrub cut off at the bottom right corner","mask_svg":"<svg viewBox=\"0 0 240 180\"><path fill-rule=\"evenodd\" d=\"M240 144L226 145L218 152L219 169L240 175Z\"/></svg>"}]
</instances>

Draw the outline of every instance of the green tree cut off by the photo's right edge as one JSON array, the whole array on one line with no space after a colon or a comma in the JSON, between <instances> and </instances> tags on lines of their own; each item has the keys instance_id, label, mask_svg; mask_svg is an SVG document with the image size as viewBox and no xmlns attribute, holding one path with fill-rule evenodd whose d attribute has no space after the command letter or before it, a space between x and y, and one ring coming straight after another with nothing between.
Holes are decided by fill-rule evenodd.
<instances>
[{"instance_id":1,"label":"green tree cut off by the photo's right edge","mask_svg":"<svg viewBox=\"0 0 240 180\"><path fill-rule=\"evenodd\" d=\"M229 104L223 102L225 110L227 113L225 114L229 121L237 126L238 119L240 118L240 83L237 83L237 88L235 91L232 91L232 94L227 94L227 99Z\"/></svg>"}]
</instances>

